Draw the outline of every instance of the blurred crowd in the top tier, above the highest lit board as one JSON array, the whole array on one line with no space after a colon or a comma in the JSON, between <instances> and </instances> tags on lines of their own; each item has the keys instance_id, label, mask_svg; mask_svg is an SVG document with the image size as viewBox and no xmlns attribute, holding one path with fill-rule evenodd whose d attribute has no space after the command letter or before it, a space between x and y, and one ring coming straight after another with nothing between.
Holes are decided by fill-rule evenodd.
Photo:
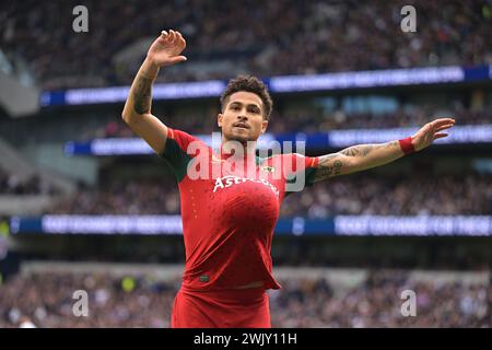
<instances>
[{"instance_id":1,"label":"blurred crowd in the top tier, above the highest lit board","mask_svg":"<svg viewBox=\"0 0 492 350\"><path fill-rule=\"evenodd\" d=\"M418 66L484 65L492 56L490 1L417 0L418 32L403 33L408 1L86 0L89 32L74 33L79 2L0 4L2 50L26 61L45 90L128 84L141 56L118 59L142 38L176 28L189 61L160 81L319 73ZM250 9L248 15L237 9ZM54 16L57 13L59 15ZM122 25L122 23L125 25ZM56 62L56 65L54 65ZM215 62L218 65L211 65ZM194 67L196 65L196 67Z\"/></svg>"}]
</instances>

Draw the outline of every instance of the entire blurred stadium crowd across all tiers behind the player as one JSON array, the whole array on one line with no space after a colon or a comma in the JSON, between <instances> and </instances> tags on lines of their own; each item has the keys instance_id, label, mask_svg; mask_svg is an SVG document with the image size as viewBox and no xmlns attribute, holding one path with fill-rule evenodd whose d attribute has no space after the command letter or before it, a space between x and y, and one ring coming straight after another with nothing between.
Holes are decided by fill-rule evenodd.
<instances>
[{"instance_id":1,"label":"entire blurred stadium crowd across all tiers behind the player","mask_svg":"<svg viewBox=\"0 0 492 350\"><path fill-rule=\"evenodd\" d=\"M492 32L491 0L414 0L417 33L401 32L400 10L408 4L406 0L390 4L385 0L85 0L89 32L77 34L72 30L72 10L78 4L75 0L0 2L0 54L15 63L14 69L25 62L43 90L128 85L150 40L167 28L176 28L186 37L184 55L188 61L165 69L157 82L230 79L237 73L269 77L492 65L487 39L487 33ZM136 50L140 54L130 58L131 49L139 45ZM452 112L457 126L492 124L490 105L489 109L476 110L473 98L464 107L450 103L452 92L443 94L449 102L445 109ZM412 101L409 93L402 95L399 102ZM342 104L330 109L303 102L298 108L293 108L295 103L280 102L277 106L276 102L268 131L278 135L415 127L444 112L419 102L384 114L350 113ZM163 105L156 101L154 112L169 127L194 135L218 131L218 105L195 112L181 112L178 106L176 113L174 106ZM19 143L61 143L77 136L80 141L134 137L120 112L105 115L109 108L94 110L87 112L91 118L85 119L81 116L84 112L75 116L67 109L62 112L67 117L63 122L50 112L33 118L36 120L1 120L2 137L10 136ZM161 113L165 110L172 113ZM469 171L453 175L434 173L425 166L417 168L406 175L365 172L316 184L289 196L281 217L492 214L490 174ZM37 176L21 180L0 170L0 195L38 194L52 194L52 189ZM46 213L178 214L179 194L171 177L126 182L101 178L95 187L81 184ZM3 219L2 224L7 232ZM492 279L479 284L465 280L415 281L410 271L376 270L343 292L323 278L292 277L280 282L283 289L269 292L273 327L492 326ZM179 283L178 279L162 281L147 275L116 277L103 272L37 272L0 278L0 328L169 327L171 306ZM407 289L417 292L415 317L400 313L400 293ZM73 315L77 290L89 293L87 317Z\"/></svg>"}]
</instances>

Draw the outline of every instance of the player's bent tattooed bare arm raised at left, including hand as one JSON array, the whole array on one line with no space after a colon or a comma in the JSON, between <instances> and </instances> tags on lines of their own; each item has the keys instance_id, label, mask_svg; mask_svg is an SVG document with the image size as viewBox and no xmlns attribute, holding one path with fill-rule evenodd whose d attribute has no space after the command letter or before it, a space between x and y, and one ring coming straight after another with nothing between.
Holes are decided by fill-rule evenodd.
<instances>
[{"instance_id":1,"label":"player's bent tattooed bare arm raised at left, including hand","mask_svg":"<svg viewBox=\"0 0 492 350\"><path fill-rule=\"evenodd\" d=\"M186 40L179 32L163 31L152 43L147 58L131 84L121 117L125 122L156 152L164 152L167 128L151 113L152 85L159 69L186 60L179 56L186 47Z\"/></svg>"}]
</instances>

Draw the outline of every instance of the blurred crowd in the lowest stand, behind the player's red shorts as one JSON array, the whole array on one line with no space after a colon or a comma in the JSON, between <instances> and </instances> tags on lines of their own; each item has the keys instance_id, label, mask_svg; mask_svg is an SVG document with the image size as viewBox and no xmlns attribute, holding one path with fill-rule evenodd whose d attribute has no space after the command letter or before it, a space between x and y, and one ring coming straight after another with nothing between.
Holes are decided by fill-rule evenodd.
<instances>
[{"instance_id":1,"label":"blurred crowd in the lowest stand, behind the player's red shorts","mask_svg":"<svg viewBox=\"0 0 492 350\"><path fill-rule=\"evenodd\" d=\"M407 271L377 270L335 293L325 278L279 280L283 288L269 291L273 327L492 326L490 281L415 281ZM178 288L177 279L145 275L16 275L0 285L0 327L169 327ZM87 292L86 317L73 314L77 290ZM403 290L415 292L415 316L401 314Z\"/></svg>"}]
</instances>

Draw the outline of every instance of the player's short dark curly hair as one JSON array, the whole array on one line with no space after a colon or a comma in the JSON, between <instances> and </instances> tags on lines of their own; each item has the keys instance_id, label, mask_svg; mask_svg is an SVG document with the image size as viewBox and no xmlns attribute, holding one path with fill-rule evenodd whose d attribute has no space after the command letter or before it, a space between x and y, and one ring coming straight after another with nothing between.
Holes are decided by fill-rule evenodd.
<instances>
[{"instance_id":1,"label":"player's short dark curly hair","mask_svg":"<svg viewBox=\"0 0 492 350\"><path fill-rule=\"evenodd\" d=\"M229 81L227 88L221 95L221 106L224 110L229 97L236 92L246 91L257 94L263 103L263 119L270 119L271 110L273 108L273 101L265 86L263 82L254 75L237 75Z\"/></svg>"}]
</instances>

